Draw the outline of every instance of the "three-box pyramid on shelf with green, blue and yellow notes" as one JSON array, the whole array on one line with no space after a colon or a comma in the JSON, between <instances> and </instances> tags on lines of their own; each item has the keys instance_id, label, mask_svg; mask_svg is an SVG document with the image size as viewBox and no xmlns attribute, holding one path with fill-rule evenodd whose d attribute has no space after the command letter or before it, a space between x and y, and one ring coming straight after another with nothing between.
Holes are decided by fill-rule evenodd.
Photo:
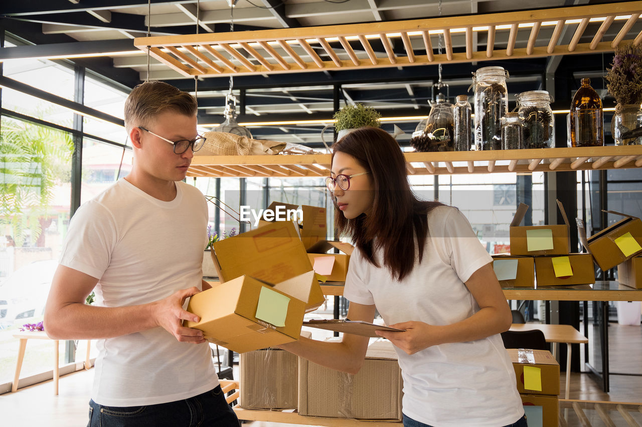
<instances>
[{"instance_id":1,"label":"three-box pyramid on shelf with green, blue and yellow notes","mask_svg":"<svg viewBox=\"0 0 642 427\"><path fill-rule=\"evenodd\" d=\"M521 203L510 223L510 255L494 255L493 268L503 286L582 285L595 283L590 254L570 253L569 223L557 201L564 224L519 226L528 205Z\"/></svg>"}]
</instances>

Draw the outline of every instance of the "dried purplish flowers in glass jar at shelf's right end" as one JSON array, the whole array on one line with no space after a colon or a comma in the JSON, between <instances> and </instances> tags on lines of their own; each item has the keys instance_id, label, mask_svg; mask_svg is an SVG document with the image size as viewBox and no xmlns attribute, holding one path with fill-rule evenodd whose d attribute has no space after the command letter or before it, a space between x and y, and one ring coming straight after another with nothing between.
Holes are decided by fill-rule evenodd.
<instances>
[{"instance_id":1,"label":"dried purplish flowers in glass jar at shelf's right end","mask_svg":"<svg viewBox=\"0 0 642 427\"><path fill-rule=\"evenodd\" d=\"M642 127L642 46L618 46L606 74L607 89L615 98L611 133L616 146L640 145L642 137L623 138L623 133Z\"/></svg>"}]
</instances>

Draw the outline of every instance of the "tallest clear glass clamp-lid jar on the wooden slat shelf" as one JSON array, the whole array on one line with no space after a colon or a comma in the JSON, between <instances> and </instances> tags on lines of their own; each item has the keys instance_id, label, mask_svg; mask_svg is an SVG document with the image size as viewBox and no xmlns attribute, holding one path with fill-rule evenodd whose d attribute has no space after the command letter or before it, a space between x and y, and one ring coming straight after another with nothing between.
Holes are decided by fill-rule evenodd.
<instances>
[{"instance_id":1,"label":"tallest clear glass clamp-lid jar on the wooden slat shelf","mask_svg":"<svg viewBox=\"0 0 642 427\"><path fill-rule=\"evenodd\" d=\"M483 67L473 72L475 146L478 150L501 149L501 118L508 112L508 71Z\"/></svg>"}]
</instances>

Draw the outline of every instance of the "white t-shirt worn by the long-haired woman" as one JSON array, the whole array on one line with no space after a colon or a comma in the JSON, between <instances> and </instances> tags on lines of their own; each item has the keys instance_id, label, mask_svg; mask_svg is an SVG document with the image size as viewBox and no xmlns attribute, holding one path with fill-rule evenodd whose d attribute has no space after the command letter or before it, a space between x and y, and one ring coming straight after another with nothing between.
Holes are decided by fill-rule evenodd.
<instances>
[{"instance_id":1,"label":"white t-shirt worn by the long-haired woman","mask_svg":"<svg viewBox=\"0 0 642 427\"><path fill-rule=\"evenodd\" d=\"M375 258L381 265L381 251ZM464 282L491 260L464 215L438 206L428 215L421 264L398 281L355 250L343 296L376 305L386 324L453 324L480 309ZM438 427L498 427L524 414L500 335L432 346L413 355L395 350L404 380L403 413L412 419Z\"/></svg>"}]
</instances>

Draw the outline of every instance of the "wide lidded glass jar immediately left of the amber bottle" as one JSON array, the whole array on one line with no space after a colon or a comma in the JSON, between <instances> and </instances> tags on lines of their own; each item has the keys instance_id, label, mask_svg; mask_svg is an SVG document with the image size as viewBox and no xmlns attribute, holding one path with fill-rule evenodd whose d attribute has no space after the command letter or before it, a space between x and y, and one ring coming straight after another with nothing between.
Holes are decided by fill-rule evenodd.
<instances>
[{"instance_id":1,"label":"wide lidded glass jar immediately left of the amber bottle","mask_svg":"<svg viewBox=\"0 0 642 427\"><path fill-rule=\"evenodd\" d=\"M555 117L548 92L522 92L517 96L517 107L524 124L524 148L555 147Z\"/></svg>"}]
</instances>

